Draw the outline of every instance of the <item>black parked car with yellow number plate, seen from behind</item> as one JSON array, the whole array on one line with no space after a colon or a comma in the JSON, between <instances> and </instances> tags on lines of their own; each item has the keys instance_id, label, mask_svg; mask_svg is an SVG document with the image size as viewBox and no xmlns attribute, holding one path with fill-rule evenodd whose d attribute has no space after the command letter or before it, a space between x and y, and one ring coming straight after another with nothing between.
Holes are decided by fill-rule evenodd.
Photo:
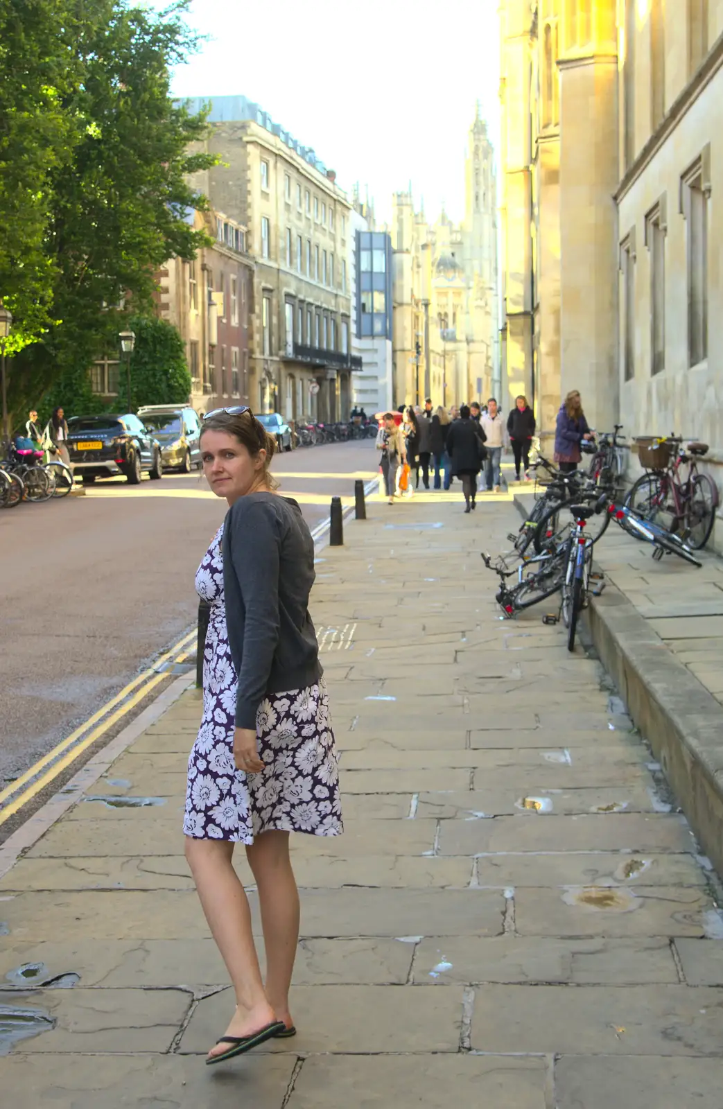
<instances>
[{"instance_id":1,"label":"black parked car with yellow number plate, seen from behind","mask_svg":"<svg viewBox=\"0 0 723 1109\"><path fill-rule=\"evenodd\" d=\"M73 416L68 420L68 450L85 485L123 474L138 485L143 474L163 476L161 444L132 413Z\"/></svg>"}]
</instances>

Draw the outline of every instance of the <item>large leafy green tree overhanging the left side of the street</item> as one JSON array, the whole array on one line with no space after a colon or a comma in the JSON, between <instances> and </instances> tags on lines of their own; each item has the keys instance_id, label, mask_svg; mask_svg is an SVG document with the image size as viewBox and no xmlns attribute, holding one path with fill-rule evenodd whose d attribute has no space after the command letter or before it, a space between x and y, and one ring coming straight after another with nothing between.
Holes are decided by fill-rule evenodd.
<instances>
[{"instance_id":1,"label":"large leafy green tree overhanging the left side of the street","mask_svg":"<svg viewBox=\"0 0 723 1109\"><path fill-rule=\"evenodd\" d=\"M205 120L170 96L170 69L196 45L186 10L187 0L161 13L129 0L0 4L0 298L14 317L13 410L63 380L88 389L90 406L83 375L118 349L123 302L152 315L155 272L207 242L190 218L206 201L189 183L212 164L194 152Z\"/></svg>"}]
</instances>

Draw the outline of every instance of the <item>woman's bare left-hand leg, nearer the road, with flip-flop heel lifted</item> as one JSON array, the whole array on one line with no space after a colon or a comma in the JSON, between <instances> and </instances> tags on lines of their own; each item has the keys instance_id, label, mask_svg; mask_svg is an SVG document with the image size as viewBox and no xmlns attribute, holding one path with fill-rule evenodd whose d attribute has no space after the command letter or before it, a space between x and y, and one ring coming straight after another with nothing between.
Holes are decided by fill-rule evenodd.
<instances>
[{"instance_id":1,"label":"woman's bare left-hand leg, nearer the road, with flip-flop heel lifted","mask_svg":"<svg viewBox=\"0 0 723 1109\"><path fill-rule=\"evenodd\" d=\"M185 855L193 881L236 994L236 1011L226 1031L230 1036L250 1036L271 1024L274 1009L264 991L248 899L233 867L233 851L234 844L224 840L186 836ZM208 1055L227 1050L228 1044L218 1044Z\"/></svg>"}]
</instances>

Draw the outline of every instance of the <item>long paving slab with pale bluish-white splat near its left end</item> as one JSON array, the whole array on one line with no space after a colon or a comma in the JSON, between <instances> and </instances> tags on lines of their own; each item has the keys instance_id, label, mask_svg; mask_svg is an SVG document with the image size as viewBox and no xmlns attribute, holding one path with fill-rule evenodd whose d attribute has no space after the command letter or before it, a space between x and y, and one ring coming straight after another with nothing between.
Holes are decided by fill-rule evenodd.
<instances>
[{"instance_id":1,"label":"long paving slab with pale bluish-white splat near its left end","mask_svg":"<svg viewBox=\"0 0 723 1109\"><path fill-rule=\"evenodd\" d=\"M668 939L428 936L414 960L415 983L678 985Z\"/></svg>"}]
</instances>

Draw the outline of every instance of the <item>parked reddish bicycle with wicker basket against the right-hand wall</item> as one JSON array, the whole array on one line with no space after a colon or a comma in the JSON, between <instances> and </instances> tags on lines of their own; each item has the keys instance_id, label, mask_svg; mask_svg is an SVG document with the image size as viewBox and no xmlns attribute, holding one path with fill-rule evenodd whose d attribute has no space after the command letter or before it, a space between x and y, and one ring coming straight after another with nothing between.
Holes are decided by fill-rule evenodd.
<instances>
[{"instance_id":1,"label":"parked reddish bicycle with wicker basket against the right-hand wall","mask_svg":"<svg viewBox=\"0 0 723 1109\"><path fill-rule=\"evenodd\" d=\"M639 439L638 449L649 472L635 481L625 506L644 520L680 536L693 550L702 550L713 530L719 505L715 482L697 470L707 444L683 446L680 436L671 435L666 439ZM684 475L683 467L688 467Z\"/></svg>"}]
</instances>

